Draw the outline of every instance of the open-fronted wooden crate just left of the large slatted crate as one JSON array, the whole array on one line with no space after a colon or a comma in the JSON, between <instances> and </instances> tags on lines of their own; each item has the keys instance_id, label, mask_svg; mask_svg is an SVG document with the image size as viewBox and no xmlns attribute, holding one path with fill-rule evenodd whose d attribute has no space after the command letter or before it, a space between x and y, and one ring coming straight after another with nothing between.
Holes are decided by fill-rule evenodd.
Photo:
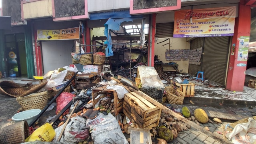
<instances>
[{"instance_id":1,"label":"open-fronted wooden crate just left of the large slatted crate","mask_svg":"<svg viewBox=\"0 0 256 144\"><path fill-rule=\"evenodd\" d=\"M102 94L102 96L100 96L99 98L96 99L96 97L99 94ZM93 107L95 108L95 105L100 100L100 98L104 98L106 96L108 96L110 98L114 98L114 110L115 110L114 116L116 116L120 112L122 112L124 99L122 98L120 100L117 96L116 90L108 90L108 89L106 89L106 87L100 87L100 88L92 89L92 104L93 104Z\"/></svg>"}]
</instances>

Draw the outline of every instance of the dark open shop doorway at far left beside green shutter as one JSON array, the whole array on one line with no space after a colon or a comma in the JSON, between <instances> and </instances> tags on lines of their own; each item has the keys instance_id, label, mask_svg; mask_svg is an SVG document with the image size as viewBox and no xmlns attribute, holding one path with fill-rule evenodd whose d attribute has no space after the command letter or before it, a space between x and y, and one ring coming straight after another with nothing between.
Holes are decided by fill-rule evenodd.
<instances>
[{"instance_id":1,"label":"dark open shop doorway at far left beside green shutter","mask_svg":"<svg viewBox=\"0 0 256 144\"><path fill-rule=\"evenodd\" d=\"M5 35L7 77L27 77L26 45L24 33Z\"/></svg>"}]
</instances>

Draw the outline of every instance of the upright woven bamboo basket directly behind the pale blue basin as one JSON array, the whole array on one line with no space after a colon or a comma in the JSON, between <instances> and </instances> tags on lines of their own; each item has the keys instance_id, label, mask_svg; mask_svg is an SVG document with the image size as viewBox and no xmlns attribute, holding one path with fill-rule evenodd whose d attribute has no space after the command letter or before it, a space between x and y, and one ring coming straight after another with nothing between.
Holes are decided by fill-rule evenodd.
<instances>
[{"instance_id":1,"label":"upright woven bamboo basket directly behind the pale blue basin","mask_svg":"<svg viewBox=\"0 0 256 144\"><path fill-rule=\"evenodd\" d=\"M28 96L17 97L17 102L22 107L22 110L31 110L31 109L44 109L47 104L47 91L37 92L30 94Z\"/></svg>"}]
</instances>

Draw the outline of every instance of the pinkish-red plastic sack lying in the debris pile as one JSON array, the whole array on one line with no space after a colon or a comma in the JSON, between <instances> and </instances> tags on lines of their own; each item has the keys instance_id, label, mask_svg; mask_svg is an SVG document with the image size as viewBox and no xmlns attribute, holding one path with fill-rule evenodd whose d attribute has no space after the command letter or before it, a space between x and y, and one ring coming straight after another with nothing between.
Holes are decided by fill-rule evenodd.
<instances>
[{"instance_id":1,"label":"pinkish-red plastic sack lying in the debris pile","mask_svg":"<svg viewBox=\"0 0 256 144\"><path fill-rule=\"evenodd\" d=\"M57 102L57 109L56 114L58 114L72 99L75 97L74 94L70 94L68 92L62 92L60 96L56 99ZM63 115L69 113L69 109L67 109Z\"/></svg>"}]
</instances>

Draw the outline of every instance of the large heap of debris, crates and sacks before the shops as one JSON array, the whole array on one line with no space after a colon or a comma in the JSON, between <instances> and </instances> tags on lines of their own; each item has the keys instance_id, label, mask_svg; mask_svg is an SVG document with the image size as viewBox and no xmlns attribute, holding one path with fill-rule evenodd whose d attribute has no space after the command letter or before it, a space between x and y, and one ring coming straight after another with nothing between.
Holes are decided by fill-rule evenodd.
<instances>
[{"instance_id":1,"label":"large heap of debris, crates and sacks before the shops","mask_svg":"<svg viewBox=\"0 0 256 144\"><path fill-rule=\"evenodd\" d=\"M73 73L67 78L69 72ZM213 123L212 120L222 123L218 118L210 120L201 108L191 112L186 106L178 109L171 104L162 105L118 74L78 91L71 84L77 74L77 70L64 67L44 76L48 81L44 89L58 91L28 122L29 131L24 132L28 135L19 143L134 144L143 138L144 144L156 141L166 144L191 127L200 129L200 124ZM179 78L184 82L191 77L179 75ZM70 84L72 90L64 91ZM37 122L44 112L53 110L53 116ZM0 132L0 143L8 143L2 135Z\"/></svg>"}]
</instances>

